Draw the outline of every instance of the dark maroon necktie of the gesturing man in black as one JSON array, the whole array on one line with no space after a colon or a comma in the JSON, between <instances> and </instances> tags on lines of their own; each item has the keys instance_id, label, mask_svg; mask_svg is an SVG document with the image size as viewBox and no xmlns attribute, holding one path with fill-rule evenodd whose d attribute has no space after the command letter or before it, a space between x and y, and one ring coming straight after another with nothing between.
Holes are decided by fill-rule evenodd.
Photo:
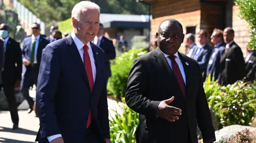
<instances>
[{"instance_id":1,"label":"dark maroon necktie of the gesturing man in black","mask_svg":"<svg viewBox=\"0 0 256 143\"><path fill-rule=\"evenodd\" d=\"M170 58L171 61L172 61L172 71L173 71L174 75L176 76L176 78L177 78L177 80L178 80L180 89L181 89L181 91L182 91L184 97L186 97L185 83L184 83L182 74L181 74L181 72L180 72L180 68L179 68L178 64L176 63L176 61L175 61L175 57L176 57L176 56L174 56L174 55L170 55L170 56L169 56L169 58Z\"/></svg>"}]
</instances>

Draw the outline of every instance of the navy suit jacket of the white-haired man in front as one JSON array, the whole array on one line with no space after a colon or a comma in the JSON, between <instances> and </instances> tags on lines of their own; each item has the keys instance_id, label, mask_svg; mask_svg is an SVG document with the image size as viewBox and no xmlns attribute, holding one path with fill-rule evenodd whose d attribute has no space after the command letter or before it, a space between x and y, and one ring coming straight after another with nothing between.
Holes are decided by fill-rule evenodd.
<instances>
[{"instance_id":1,"label":"navy suit jacket of the white-haired man in front","mask_svg":"<svg viewBox=\"0 0 256 143\"><path fill-rule=\"evenodd\" d=\"M36 88L40 143L48 143L47 137L56 134L61 134L65 143L82 143L90 108L99 137L110 139L105 54L100 47L90 44L96 65L92 92L71 35L46 46Z\"/></svg>"}]
</instances>

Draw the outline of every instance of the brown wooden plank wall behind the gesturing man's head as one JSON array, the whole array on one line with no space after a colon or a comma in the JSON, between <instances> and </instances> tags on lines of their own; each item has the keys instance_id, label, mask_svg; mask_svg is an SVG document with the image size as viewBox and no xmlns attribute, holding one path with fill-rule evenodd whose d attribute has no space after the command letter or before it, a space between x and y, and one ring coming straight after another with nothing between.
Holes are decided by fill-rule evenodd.
<instances>
[{"instance_id":1,"label":"brown wooden plank wall behind the gesturing man's head","mask_svg":"<svg viewBox=\"0 0 256 143\"><path fill-rule=\"evenodd\" d=\"M196 26L200 30L200 3L199 0L157 0L152 2L151 41L155 40L159 24L166 19L178 20L186 33L187 26ZM180 51L185 52L184 43Z\"/></svg>"}]
</instances>

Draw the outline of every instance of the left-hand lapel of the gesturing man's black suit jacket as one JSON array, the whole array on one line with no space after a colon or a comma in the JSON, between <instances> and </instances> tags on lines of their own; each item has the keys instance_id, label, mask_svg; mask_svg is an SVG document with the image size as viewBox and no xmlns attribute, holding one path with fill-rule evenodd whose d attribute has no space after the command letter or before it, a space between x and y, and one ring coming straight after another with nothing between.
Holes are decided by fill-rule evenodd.
<instances>
[{"instance_id":1,"label":"left-hand lapel of the gesturing man's black suit jacket","mask_svg":"<svg viewBox=\"0 0 256 143\"><path fill-rule=\"evenodd\" d=\"M172 81L174 82L174 84L170 84L170 85L176 86L175 87L176 89L180 89L180 86L178 84L178 80L177 80L176 76L174 75L168 61L166 60L166 57L164 57L164 54L160 51L160 49L158 47L154 50L154 57L156 57L155 61L158 63L158 65L160 67L164 67L166 69L166 70L163 70L163 71L167 71L166 79L168 79L170 82L172 82ZM179 91L180 91L180 95L182 96L182 98L184 98L181 89Z\"/></svg>"}]
</instances>

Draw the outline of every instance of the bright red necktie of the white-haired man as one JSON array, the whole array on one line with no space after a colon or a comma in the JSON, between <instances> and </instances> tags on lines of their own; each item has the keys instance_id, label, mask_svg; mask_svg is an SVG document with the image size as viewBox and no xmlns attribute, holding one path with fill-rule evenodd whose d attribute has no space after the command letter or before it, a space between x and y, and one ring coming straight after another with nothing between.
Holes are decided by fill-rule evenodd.
<instances>
[{"instance_id":1,"label":"bright red necktie of the white-haired man","mask_svg":"<svg viewBox=\"0 0 256 143\"><path fill-rule=\"evenodd\" d=\"M92 65L91 65L90 56L88 54L88 46L87 45L84 45L84 67L85 67L85 71L86 71L87 78L88 78L91 92L92 92L93 91ZM88 117L88 121L87 121L87 125L86 125L87 129L91 123L92 123L92 110L90 108L89 117Z\"/></svg>"}]
</instances>

